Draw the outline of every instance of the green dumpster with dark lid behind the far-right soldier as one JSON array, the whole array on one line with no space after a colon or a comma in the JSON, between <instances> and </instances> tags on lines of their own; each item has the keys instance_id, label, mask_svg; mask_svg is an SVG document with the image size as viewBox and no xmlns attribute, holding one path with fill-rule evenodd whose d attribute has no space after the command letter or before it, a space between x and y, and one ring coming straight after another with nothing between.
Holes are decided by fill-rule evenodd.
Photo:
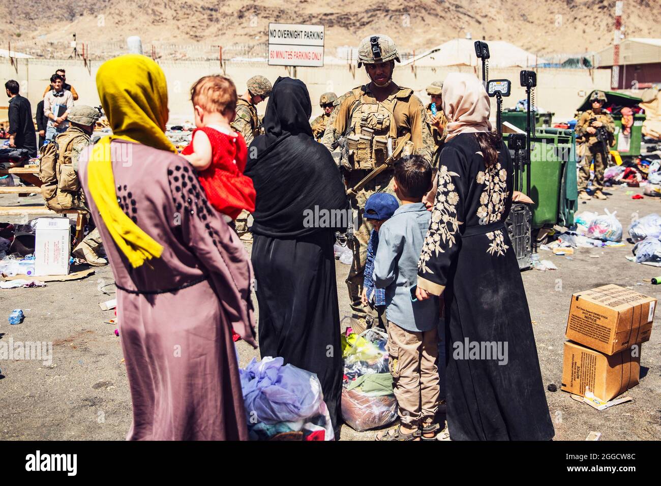
<instances>
[{"instance_id":1,"label":"green dumpster with dark lid behind the far-right soldier","mask_svg":"<svg viewBox=\"0 0 661 486\"><path fill-rule=\"evenodd\" d=\"M592 91L578 107L576 119L578 119L578 116L580 116L579 113L592 108L592 103L590 103L590 97L592 97L592 93L594 93L594 91ZM642 122L645 121L645 116L644 114L634 114L631 132L629 132L629 135L626 136L622 133L622 115L620 114L619 110L625 106L633 108L642 102L642 99L627 93L623 93L621 91L603 91L603 93L606 95L607 99L604 108L611 106L611 104L616 106L614 110L615 113L611 113L611 116L613 116L613 121L615 121L615 147L613 147L613 150L617 150L622 157L637 157L641 155Z\"/></svg>"}]
</instances>

